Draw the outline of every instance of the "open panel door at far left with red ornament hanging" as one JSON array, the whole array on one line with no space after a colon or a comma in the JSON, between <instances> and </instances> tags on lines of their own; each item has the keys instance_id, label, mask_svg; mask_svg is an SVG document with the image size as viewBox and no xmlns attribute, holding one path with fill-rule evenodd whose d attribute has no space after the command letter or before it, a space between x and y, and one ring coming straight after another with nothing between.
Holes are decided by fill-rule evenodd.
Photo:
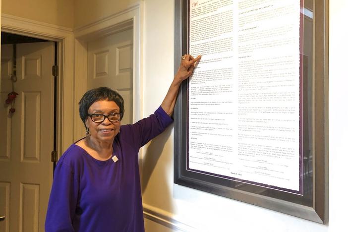
<instances>
[{"instance_id":1,"label":"open panel door at far left with red ornament hanging","mask_svg":"<svg viewBox=\"0 0 348 232\"><path fill-rule=\"evenodd\" d=\"M19 95L10 116L12 46L1 46L0 223L4 232L44 232L53 165L54 43L17 44Z\"/></svg>"}]
</instances>

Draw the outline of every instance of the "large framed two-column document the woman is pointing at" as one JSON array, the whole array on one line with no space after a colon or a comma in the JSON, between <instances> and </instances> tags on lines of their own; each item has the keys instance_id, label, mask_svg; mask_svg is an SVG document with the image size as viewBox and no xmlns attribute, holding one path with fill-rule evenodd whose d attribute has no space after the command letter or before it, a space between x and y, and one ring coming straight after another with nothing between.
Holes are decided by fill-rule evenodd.
<instances>
[{"instance_id":1,"label":"large framed two-column document the woman is pointing at","mask_svg":"<svg viewBox=\"0 0 348 232\"><path fill-rule=\"evenodd\" d=\"M327 6L175 1L175 183L326 223Z\"/></svg>"}]
</instances>

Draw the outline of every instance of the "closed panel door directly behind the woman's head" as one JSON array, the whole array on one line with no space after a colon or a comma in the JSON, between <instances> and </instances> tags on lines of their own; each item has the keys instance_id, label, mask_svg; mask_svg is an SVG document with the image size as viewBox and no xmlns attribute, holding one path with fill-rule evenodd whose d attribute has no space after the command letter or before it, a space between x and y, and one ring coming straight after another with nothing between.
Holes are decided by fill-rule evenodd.
<instances>
[{"instance_id":1,"label":"closed panel door directly behind the woman's head","mask_svg":"<svg viewBox=\"0 0 348 232\"><path fill-rule=\"evenodd\" d=\"M122 124L133 121L133 29L88 42L87 89L107 86L124 99Z\"/></svg>"}]
</instances>

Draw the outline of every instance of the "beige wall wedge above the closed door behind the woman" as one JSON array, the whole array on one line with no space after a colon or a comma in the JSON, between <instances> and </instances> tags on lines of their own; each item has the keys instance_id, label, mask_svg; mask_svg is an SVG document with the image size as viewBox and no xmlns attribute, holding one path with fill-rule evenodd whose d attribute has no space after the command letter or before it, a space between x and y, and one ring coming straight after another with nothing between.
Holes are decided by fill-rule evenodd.
<instances>
[{"instance_id":1,"label":"beige wall wedge above the closed door behind the woman","mask_svg":"<svg viewBox=\"0 0 348 232\"><path fill-rule=\"evenodd\" d=\"M139 0L75 0L74 28L105 18Z\"/></svg>"}]
</instances>

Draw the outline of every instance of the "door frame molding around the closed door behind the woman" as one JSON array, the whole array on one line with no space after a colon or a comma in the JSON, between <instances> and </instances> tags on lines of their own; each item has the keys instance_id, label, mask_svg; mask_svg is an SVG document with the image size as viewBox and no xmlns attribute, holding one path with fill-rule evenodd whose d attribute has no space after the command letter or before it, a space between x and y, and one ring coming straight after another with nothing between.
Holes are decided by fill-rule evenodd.
<instances>
[{"instance_id":1,"label":"door frame molding around the closed door behind the woman","mask_svg":"<svg viewBox=\"0 0 348 232\"><path fill-rule=\"evenodd\" d=\"M144 3L139 1L128 8L87 25L74 28L75 35L75 88L74 88L74 139L85 136L79 117L78 101L87 91L87 43L133 28L133 122L142 116L142 79L144 43ZM141 152L140 152L141 156Z\"/></svg>"}]
</instances>

